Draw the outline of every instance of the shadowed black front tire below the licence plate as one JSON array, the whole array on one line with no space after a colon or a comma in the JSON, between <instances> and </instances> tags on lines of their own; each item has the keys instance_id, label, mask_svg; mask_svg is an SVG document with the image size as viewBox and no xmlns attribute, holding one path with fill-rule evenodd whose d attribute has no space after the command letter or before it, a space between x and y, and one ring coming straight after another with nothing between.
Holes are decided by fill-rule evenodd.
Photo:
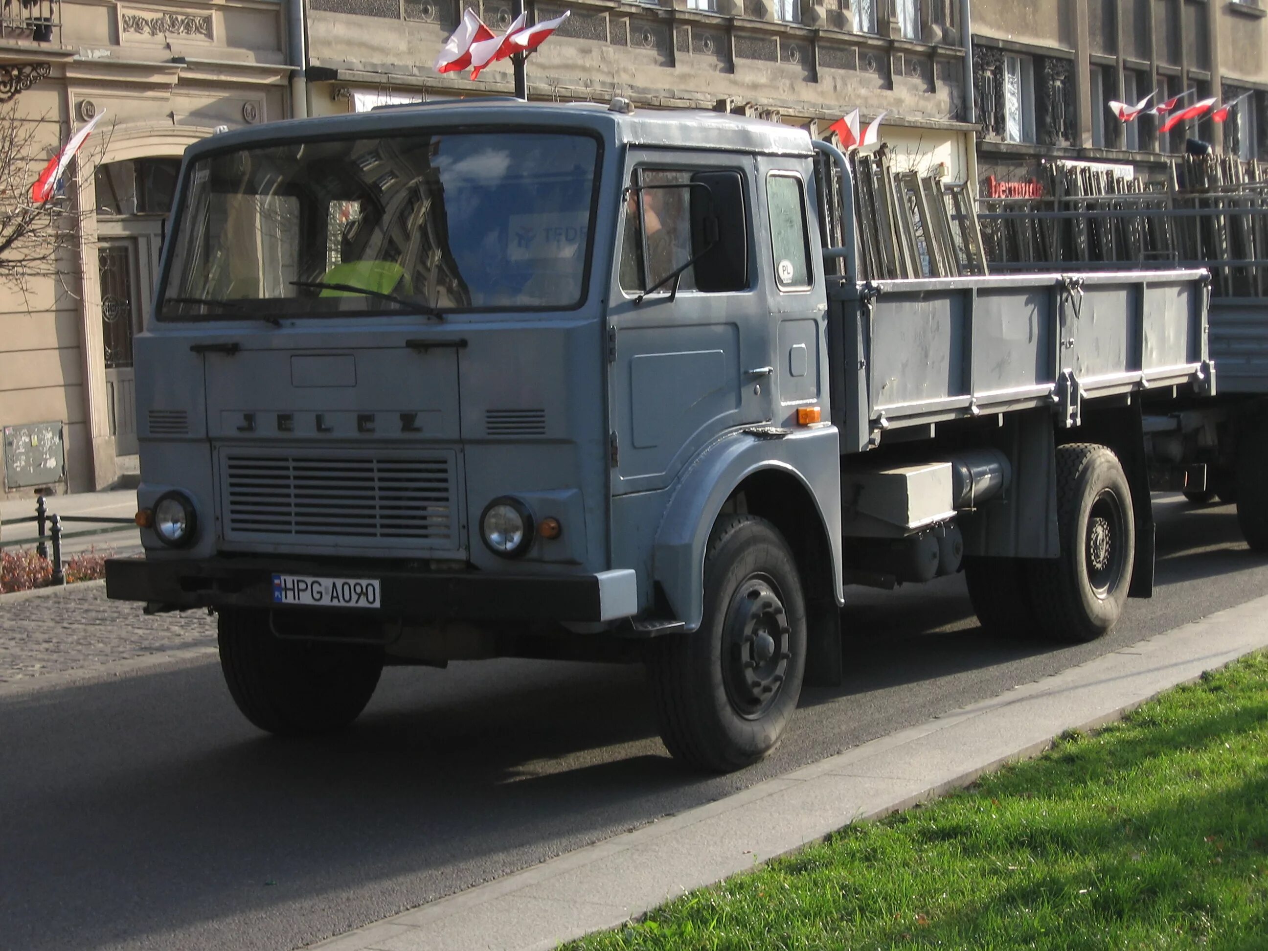
<instances>
[{"instance_id":1,"label":"shadowed black front tire below the licence plate","mask_svg":"<svg viewBox=\"0 0 1268 951\"><path fill-rule=\"evenodd\" d=\"M355 720L383 672L383 649L285 640L268 611L221 611L221 670L238 710L266 733L333 733Z\"/></svg>"}]
</instances>

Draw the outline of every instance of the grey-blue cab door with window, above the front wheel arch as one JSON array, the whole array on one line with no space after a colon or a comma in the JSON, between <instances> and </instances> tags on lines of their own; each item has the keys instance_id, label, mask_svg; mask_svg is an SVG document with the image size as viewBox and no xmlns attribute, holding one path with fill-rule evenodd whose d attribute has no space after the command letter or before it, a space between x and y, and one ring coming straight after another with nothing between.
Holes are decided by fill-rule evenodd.
<instances>
[{"instance_id":1,"label":"grey-blue cab door with window, above the front wheel arch","mask_svg":"<svg viewBox=\"0 0 1268 951\"><path fill-rule=\"evenodd\" d=\"M749 283L704 293L691 260L691 176L734 170L744 180ZM612 361L612 495L668 486L718 434L775 417L773 340L753 265L753 165L744 156L631 151L621 240L609 299ZM642 301L639 298L642 297Z\"/></svg>"}]
</instances>

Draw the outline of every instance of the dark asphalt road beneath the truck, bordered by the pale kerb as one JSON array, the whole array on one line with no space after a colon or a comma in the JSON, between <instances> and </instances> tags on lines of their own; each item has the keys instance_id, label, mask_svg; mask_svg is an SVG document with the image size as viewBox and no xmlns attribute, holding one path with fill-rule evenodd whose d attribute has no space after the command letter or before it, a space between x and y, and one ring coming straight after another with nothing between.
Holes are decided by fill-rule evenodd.
<instances>
[{"instance_id":1,"label":"dark asphalt road beneath the truck, bordered by the pale kerb","mask_svg":"<svg viewBox=\"0 0 1268 951\"><path fill-rule=\"evenodd\" d=\"M1268 591L1230 507L1158 508L1159 591L1096 644L990 640L959 577L852 588L847 682L727 777L667 757L638 668L389 670L303 742L247 725L214 662L0 700L0 946L295 947Z\"/></svg>"}]
</instances>

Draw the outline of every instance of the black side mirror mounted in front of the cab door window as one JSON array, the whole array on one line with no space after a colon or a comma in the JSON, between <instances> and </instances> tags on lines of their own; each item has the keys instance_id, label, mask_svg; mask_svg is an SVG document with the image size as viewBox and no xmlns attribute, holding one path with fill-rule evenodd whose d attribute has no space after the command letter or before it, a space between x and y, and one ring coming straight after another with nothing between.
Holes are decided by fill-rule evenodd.
<instances>
[{"instance_id":1,"label":"black side mirror mounted in front of the cab door window","mask_svg":"<svg viewBox=\"0 0 1268 951\"><path fill-rule=\"evenodd\" d=\"M697 171L691 176L691 256L696 289L706 293L748 288L748 222L744 176L738 171ZM700 188L700 186L704 188Z\"/></svg>"}]
</instances>

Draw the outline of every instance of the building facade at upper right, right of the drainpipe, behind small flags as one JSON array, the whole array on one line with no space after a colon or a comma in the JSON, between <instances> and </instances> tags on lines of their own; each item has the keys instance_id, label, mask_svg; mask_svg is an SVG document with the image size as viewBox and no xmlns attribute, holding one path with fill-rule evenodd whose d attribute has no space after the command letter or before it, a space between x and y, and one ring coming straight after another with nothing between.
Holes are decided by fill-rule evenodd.
<instances>
[{"instance_id":1,"label":"building facade at upper right, right of the drainpipe, behind small flags","mask_svg":"<svg viewBox=\"0 0 1268 951\"><path fill-rule=\"evenodd\" d=\"M1189 138L1268 158L1265 14L1259 0L974 0L981 193L1033 190L1052 158L1126 164L1161 180L1167 156ZM1151 104L1183 95L1179 107L1240 100L1225 123L1202 117L1167 133L1155 115L1123 123L1107 105L1150 93Z\"/></svg>"}]
</instances>

